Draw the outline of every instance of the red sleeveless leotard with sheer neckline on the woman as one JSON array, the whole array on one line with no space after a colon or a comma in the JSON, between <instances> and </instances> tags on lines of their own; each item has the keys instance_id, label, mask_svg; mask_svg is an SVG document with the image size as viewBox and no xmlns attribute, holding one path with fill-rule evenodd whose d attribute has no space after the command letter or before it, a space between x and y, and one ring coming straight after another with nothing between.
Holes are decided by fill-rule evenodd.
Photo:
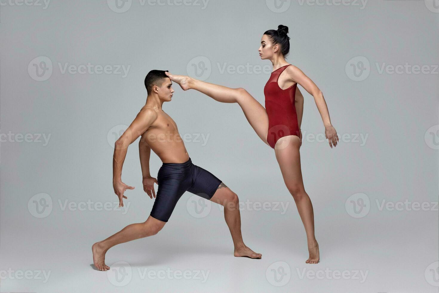
<instances>
[{"instance_id":1,"label":"red sleeveless leotard with sheer neckline on the woman","mask_svg":"<svg viewBox=\"0 0 439 293\"><path fill-rule=\"evenodd\" d=\"M294 104L297 83L284 90L277 84L279 76L288 65L284 65L271 72L270 79L264 87L265 109L268 114L267 142L272 148L274 148L276 141L281 137L297 135L300 138Z\"/></svg>"}]
</instances>

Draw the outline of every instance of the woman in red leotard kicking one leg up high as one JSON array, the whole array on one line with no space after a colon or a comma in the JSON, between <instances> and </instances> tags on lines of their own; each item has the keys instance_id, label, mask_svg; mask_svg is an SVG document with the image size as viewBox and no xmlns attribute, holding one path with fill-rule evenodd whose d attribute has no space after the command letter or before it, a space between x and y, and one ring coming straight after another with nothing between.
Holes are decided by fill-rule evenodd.
<instances>
[{"instance_id":1,"label":"woman in red leotard kicking one leg up high","mask_svg":"<svg viewBox=\"0 0 439 293\"><path fill-rule=\"evenodd\" d=\"M305 191L300 167L299 148L302 145L303 96L299 83L313 95L323 119L325 135L329 146L336 146L338 136L331 125L329 112L322 92L299 68L288 64L285 56L290 49L287 36L288 27L279 25L277 30L267 30L261 39L259 56L273 63L274 71L265 85L265 106L259 104L245 89L229 88L206 83L189 76L173 75L166 72L172 81L180 84L183 90L194 89L223 103L238 103L256 134L270 147L274 148L277 162L288 191L294 198L299 215L305 226L309 258L307 264L317 264L320 260L319 245L314 235L313 205Z\"/></svg>"}]
</instances>

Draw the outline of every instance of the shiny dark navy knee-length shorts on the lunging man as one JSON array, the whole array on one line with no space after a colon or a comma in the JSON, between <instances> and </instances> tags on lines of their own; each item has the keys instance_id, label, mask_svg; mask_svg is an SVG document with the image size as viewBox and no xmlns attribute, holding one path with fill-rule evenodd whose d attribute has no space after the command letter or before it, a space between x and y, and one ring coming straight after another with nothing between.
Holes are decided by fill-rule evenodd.
<instances>
[{"instance_id":1,"label":"shiny dark navy knee-length shorts on the lunging man","mask_svg":"<svg viewBox=\"0 0 439 293\"><path fill-rule=\"evenodd\" d=\"M205 199L211 199L221 180L201 167L185 163L163 163L157 174L158 191L152 206L151 217L167 222L175 205L188 191Z\"/></svg>"}]
</instances>

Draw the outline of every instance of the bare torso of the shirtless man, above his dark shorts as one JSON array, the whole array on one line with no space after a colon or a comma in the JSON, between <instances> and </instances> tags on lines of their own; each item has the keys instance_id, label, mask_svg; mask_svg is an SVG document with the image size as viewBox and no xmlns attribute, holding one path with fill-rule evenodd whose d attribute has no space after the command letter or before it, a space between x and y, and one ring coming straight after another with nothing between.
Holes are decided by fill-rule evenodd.
<instances>
[{"instance_id":1,"label":"bare torso of the shirtless man, above his dark shorts","mask_svg":"<svg viewBox=\"0 0 439 293\"><path fill-rule=\"evenodd\" d=\"M146 109L145 105L140 111ZM184 163L189 159L184 142L178 133L177 124L162 109L153 109L157 119L141 135L141 141L148 144L163 163Z\"/></svg>"}]
</instances>

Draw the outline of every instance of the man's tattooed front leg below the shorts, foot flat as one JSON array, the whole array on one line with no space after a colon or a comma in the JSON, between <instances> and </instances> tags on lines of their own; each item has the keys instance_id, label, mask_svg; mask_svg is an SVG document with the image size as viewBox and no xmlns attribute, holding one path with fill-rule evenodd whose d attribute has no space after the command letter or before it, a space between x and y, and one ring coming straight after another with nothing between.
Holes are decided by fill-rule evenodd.
<instances>
[{"instance_id":1,"label":"man's tattooed front leg below the shorts, foot flat","mask_svg":"<svg viewBox=\"0 0 439 293\"><path fill-rule=\"evenodd\" d=\"M251 257L262 258L261 253L255 253L253 250L245 246L241 235L241 214L239 212L239 199L236 193L230 190L221 182L215 194L210 199L215 203L224 206L224 218L232 235L235 247L235 257Z\"/></svg>"}]
</instances>

